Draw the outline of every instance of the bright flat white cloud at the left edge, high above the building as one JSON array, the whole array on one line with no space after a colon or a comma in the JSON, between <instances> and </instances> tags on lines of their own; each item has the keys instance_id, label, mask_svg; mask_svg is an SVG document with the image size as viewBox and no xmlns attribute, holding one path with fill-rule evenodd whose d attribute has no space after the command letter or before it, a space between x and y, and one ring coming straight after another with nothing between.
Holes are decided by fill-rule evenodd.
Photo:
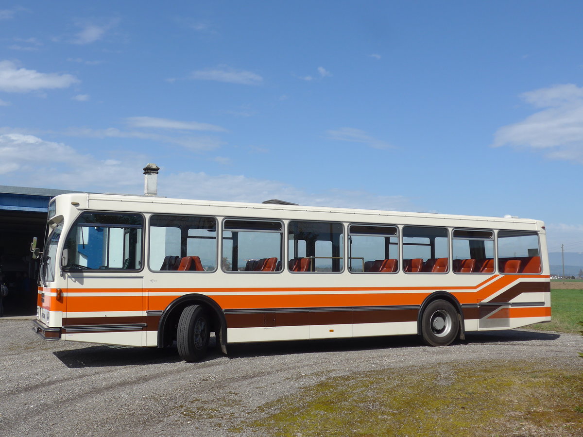
<instances>
[{"instance_id":1,"label":"bright flat white cloud at the left edge, high above the building","mask_svg":"<svg viewBox=\"0 0 583 437\"><path fill-rule=\"evenodd\" d=\"M36 70L18 68L12 61L0 61L0 90L8 93L67 88L79 82L73 75L39 73Z\"/></svg>"}]
</instances>

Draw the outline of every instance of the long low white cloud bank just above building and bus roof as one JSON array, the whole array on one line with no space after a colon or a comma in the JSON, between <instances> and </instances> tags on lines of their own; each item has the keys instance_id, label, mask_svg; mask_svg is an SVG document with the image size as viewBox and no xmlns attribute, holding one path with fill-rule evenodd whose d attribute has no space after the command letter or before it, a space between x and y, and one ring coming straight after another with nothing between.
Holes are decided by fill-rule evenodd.
<instances>
[{"instance_id":1,"label":"long low white cloud bank just above building and bus roof","mask_svg":"<svg viewBox=\"0 0 583 437\"><path fill-rule=\"evenodd\" d=\"M120 154L99 157L79 153L64 143L50 142L34 135L0 135L2 180L8 185L34 186L31 175L50 175L51 188L75 191L141 194L142 168L151 159L142 155ZM218 157L217 161L225 158ZM225 160L224 163L228 163ZM158 163L160 164L160 163ZM262 202L282 199L300 205L353 207L382 210L412 210L409 199L364 191L330 190L307 192L285 182L250 178L244 175L209 175L204 172L170 172L162 168L158 178L161 196L189 199Z\"/></svg>"}]
</instances>

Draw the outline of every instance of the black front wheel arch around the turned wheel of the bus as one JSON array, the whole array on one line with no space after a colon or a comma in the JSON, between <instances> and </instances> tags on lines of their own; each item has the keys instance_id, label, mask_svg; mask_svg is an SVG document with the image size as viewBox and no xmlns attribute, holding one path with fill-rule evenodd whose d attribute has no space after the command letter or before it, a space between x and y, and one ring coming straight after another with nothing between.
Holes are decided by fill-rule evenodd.
<instances>
[{"instance_id":1,"label":"black front wheel arch around the turned wheel of the bus","mask_svg":"<svg viewBox=\"0 0 583 437\"><path fill-rule=\"evenodd\" d=\"M187 294L181 296L164 309L158 323L158 347L166 347L172 344L178 319L184 308L189 305L203 305L209 310L212 320L213 330L218 334L217 342L224 354L227 353L227 320L224 317L223 309L213 299L203 294Z\"/></svg>"}]
</instances>

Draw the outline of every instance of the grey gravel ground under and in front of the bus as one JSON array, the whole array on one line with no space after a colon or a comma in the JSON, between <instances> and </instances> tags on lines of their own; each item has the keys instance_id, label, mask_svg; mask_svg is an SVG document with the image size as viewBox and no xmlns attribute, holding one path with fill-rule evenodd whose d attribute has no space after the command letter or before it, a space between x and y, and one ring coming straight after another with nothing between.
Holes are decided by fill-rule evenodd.
<instances>
[{"instance_id":1,"label":"grey gravel ground under and in front of the bus","mask_svg":"<svg viewBox=\"0 0 583 437\"><path fill-rule=\"evenodd\" d=\"M0 319L0 332L2 436L251 437L258 434L229 428L332 376L447 362L563 362L583 351L578 334L505 330L468 333L449 347L420 346L416 336L241 344L228 357L213 349L188 364L175 348L44 341L31 320Z\"/></svg>"}]
</instances>

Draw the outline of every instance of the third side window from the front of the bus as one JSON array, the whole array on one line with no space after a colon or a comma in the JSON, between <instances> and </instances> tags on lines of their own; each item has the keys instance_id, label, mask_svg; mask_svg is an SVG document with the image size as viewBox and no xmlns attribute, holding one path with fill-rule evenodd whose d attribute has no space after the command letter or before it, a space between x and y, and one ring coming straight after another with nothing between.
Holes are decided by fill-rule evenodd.
<instances>
[{"instance_id":1,"label":"third side window from the front of the bus","mask_svg":"<svg viewBox=\"0 0 583 437\"><path fill-rule=\"evenodd\" d=\"M283 223L227 219L223 223L221 267L225 272L282 270Z\"/></svg>"}]
</instances>

